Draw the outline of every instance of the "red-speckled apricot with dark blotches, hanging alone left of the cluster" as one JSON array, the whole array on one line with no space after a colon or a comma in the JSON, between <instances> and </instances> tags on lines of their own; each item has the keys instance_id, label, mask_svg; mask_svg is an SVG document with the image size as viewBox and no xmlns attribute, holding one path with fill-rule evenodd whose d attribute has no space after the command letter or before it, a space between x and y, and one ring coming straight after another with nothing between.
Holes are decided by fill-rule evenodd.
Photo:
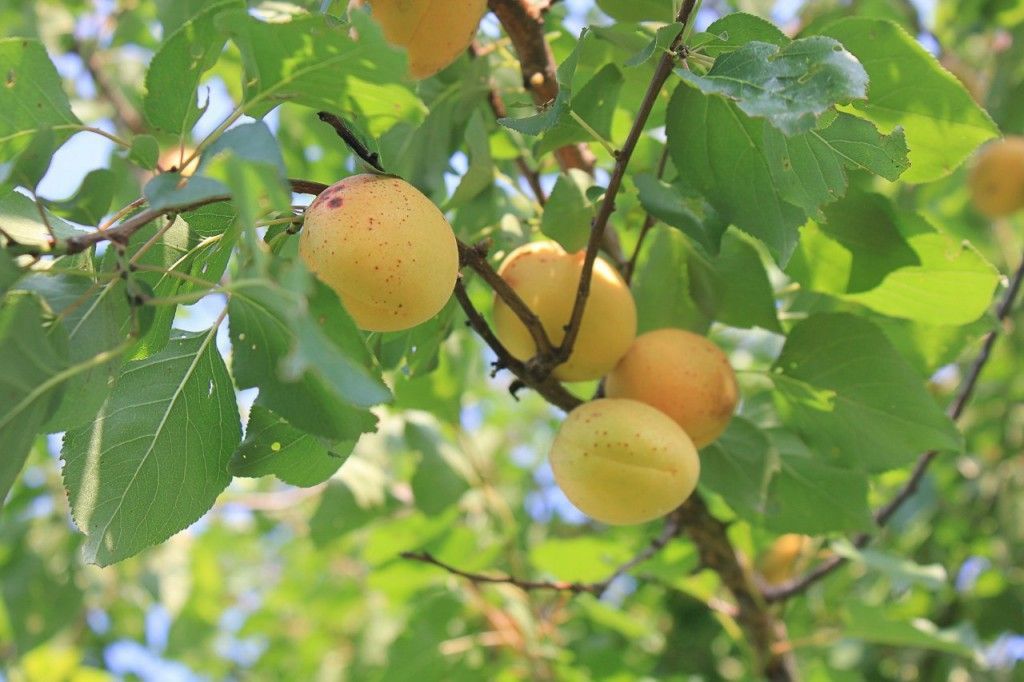
<instances>
[{"instance_id":1,"label":"red-speckled apricot with dark blotches, hanging alone left of the cluster","mask_svg":"<svg viewBox=\"0 0 1024 682\"><path fill-rule=\"evenodd\" d=\"M459 274L447 220L416 187L385 175L353 175L325 189L306 210L299 255L372 332L434 316Z\"/></svg>"}]
</instances>

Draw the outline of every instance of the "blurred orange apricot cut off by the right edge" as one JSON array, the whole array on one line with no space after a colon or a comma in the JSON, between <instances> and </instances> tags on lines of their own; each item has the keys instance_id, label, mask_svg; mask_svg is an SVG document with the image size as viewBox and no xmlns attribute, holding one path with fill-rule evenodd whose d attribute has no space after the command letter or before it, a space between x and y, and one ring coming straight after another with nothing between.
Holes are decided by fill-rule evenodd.
<instances>
[{"instance_id":1,"label":"blurred orange apricot cut off by the right edge","mask_svg":"<svg viewBox=\"0 0 1024 682\"><path fill-rule=\"evenodd\" d=\"M974 207L989 218L1024 208L1024 137L987 144L975 160L968 187Z\"/></svg>"}]
</instances>

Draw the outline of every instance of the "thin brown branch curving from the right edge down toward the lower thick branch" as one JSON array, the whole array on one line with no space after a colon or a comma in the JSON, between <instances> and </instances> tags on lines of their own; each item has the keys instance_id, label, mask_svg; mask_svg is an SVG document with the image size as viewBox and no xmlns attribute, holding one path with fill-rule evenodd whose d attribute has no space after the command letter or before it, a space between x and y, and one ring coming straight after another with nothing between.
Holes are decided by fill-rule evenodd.
<instances>
[{"instance_id":1,"label":"thin brown branch curving from the right edge down toward the lower thick branch","mask_svg":"<svg viewBox=\"0 0 1024 682\"><path fill-rule=\"evenodd\" d=\"M1007 324L1011 312L1013 312L1017 296L1021 290L1022 282L1024 282L1024 257L1022 257L1020 264L1017 266L1017 271L1014 273L1013 280L1010 282L1010 287L1007 289L1006 294L1002 296L1002 300L999 302L999 305L995 310L995 317L998 325L985 335L985 339L981 344L981 350L971 364L971 369L968 371L967 377L961 384L955 399L949 406L948 414L951 419L958 420L964 414L964 410L970 402L971 396L974 394L974 389L978 385L978 380L981 377L982 370L985 369L985 365L991 356L992 348L995 346L995 341L999 337L1000 328ZM892 517L896 514L896 512L898 512L900 508L902 508L903 505L914 496L922 480L925 478L925 474L928 473L928 468L931 466L932 462L935 461L935 458L937 458L938 455L938 452L933 450L918 458L918 463L914 465L910 477L907 478L905 483L903 483L903 486L896 493L896 495L893 496L892 500L874 512L874 522L880 529L885 527L886 524L892 520ZM870 543L872 539L871 535L863 532L853 539L853 545L854 547L860 549ZM765 589L764 597L767 601L784 601L790 597L805 592L812 585L830 574L846 562L846 557L833 555L803 576L795 578L787 583L783 583L782 585Z\"/></svg>"}]
</instances>

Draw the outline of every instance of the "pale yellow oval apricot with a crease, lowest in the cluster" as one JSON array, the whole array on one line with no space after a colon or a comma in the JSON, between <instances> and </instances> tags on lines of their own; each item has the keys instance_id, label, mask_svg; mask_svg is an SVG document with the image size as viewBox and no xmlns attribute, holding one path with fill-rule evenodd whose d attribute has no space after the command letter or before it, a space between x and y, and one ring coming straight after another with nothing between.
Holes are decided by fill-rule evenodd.
<instances>
[{"instance_id":1,"label":"pale yellow oval apricot with a crease, lowest in the cluster","mask_svg":"<svg viewBox=\"0 0 1024 682\"><path fill-rule=\"evenodd\" d=\"M700 461L686 432L663 413L637 400L601 398L565 418L551 445L551 469L581 511L625 525L683 504L696 487Z\"/></svg>"}]
</instances>

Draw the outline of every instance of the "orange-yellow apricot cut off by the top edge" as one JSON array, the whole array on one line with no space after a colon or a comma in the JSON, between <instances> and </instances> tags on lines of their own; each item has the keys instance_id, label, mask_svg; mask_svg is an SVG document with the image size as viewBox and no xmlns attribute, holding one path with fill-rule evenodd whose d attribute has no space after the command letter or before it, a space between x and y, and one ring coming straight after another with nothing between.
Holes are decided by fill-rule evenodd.
<instances>
[{"instance_id":1,"label":"orange-yellow apricot cut off by the top edge","mask_svg":"<svg viewBox=\"0 0 1024 682\"><path fill-rule=\"evenodd\" d=\"M409 52L413 78L427 78L462 54L476 35L486 0L369 0L388 42Z\"/></svg>"}]
</instances>

